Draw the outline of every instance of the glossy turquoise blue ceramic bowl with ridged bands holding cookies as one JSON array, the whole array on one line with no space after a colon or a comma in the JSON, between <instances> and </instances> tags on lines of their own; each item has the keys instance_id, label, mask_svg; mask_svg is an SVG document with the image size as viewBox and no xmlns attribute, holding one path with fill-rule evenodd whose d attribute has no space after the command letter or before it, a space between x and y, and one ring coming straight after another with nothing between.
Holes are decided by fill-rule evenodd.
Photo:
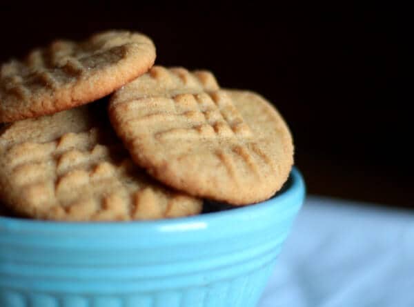
<instances>
[{"instance_id":1,"label":"glossy turquoise blue ceramic bowl with ridged bands holding cookies","mask_svg":"<svg viewBox=\"0 0 414 307\"><path fill-rule=\"evenodd\" d=\"M130 223L0 217L1 307L253 307L304 200Z\"/></svg>"}]
</instances>

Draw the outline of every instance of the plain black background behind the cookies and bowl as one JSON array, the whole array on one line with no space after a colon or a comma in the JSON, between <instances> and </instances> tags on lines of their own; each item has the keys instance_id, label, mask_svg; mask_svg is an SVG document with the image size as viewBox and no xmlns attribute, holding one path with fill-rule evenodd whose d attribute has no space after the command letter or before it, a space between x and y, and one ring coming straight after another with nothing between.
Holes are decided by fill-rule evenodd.
<instances>
[{"instance_id":1,"label":"plain black background behind the cookies and bowl","mask_svg":"<svg viewBox=\"0 0 414 307\"><path fill-rule=\"evenodd\" d=\"M155 42L158 64L207 68L221 86L275 103L308 192L414 208L406 8L121 1L0 8L1 62L57 37L139 30Z\"/></svg>"}]
</instances>

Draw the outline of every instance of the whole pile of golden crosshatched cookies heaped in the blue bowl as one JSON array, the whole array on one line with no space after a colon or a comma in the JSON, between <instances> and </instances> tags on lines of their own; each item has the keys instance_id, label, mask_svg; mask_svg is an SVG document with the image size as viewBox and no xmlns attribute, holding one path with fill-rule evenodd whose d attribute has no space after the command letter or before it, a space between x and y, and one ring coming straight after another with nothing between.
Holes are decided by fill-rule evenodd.
<instances>
[{"instance_id":1,"label":"whole pile of golden crosshatched cookies heaped in the blue bowl","mask_svg":"<svg viewBox=\"0 0 414 307\"><path fill-rule=\"evenodd\" d=\"M272 197L293 165L277 110L211 72L154 61L148 37L110 31L3 64L0 210L127 221Z\"/></svg>"}]
</instances>

